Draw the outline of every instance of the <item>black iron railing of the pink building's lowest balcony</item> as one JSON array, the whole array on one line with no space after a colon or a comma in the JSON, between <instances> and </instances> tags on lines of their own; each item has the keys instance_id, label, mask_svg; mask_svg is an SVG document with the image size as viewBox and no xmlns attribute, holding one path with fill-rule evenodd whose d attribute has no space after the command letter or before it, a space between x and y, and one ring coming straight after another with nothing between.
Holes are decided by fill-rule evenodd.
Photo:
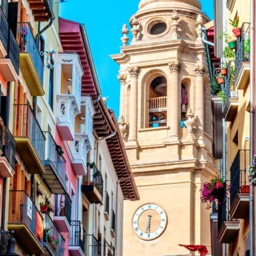
<instances>
[{"instance_id":1,"label":"black iron railing of the pink building's lowest balcony","mask_svg":"<svg viewBox=\"0 0 256 256\"><path fill-rule=\"evenodd\" d=\"M85 249L85 230L81 221L71 221L69 246L79 246L82 251Z\"/></svg>"}]
</instances>

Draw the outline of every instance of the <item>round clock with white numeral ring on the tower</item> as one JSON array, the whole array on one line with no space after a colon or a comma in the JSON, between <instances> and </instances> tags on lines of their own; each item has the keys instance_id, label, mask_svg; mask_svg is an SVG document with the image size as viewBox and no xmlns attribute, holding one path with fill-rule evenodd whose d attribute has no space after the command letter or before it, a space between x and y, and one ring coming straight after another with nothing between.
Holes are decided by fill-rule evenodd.
<instances>
[{"instance_id":1,"label":"round clock with white numeral ring on the tower","mask_svg":"<svg viewBox=\"0 0 256 256\"><path fill-rule=\"evenodd\" d=\"M166 229L166 212L156 204L144 204L133 216L133 229L142 240L153 240Z\"/></svg>"}]
</instances>

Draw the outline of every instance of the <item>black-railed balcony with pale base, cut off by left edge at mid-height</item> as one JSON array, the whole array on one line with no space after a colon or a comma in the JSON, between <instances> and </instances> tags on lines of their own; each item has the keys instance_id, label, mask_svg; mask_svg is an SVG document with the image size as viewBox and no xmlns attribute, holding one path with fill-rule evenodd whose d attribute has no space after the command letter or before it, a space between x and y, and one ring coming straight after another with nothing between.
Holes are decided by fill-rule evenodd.
<instances>
[{"instance_id":1,"label":"black-railed balcony with pale base, cut off by left edge at mid-height","mask_svg":"<svg viewBox=\"0 0 256 256\"><path fill-rule=\"evenodd\" d=\"M2 118L0 117L1 122ZM0 126L0 176L13 177L15 174L15 140L9 129Z\"/></svg>"}]
</instances>

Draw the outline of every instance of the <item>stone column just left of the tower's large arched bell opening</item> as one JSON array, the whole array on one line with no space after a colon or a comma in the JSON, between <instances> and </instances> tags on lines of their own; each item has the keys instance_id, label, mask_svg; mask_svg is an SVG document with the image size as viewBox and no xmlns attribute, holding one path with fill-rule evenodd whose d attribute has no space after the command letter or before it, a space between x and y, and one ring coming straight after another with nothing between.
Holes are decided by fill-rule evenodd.
<instances>
[{"instance_id":1,"label":"stone column just left of the tower's large arched bell opening","mask_svg":"<svg viewBox=\"0 0 256 256\"><path fill-rule=\"evenodd\" d=\"M139 67L129 68L128 72L131 77L130 121L129 121L129 139L128 139L128 141L137 141Z\"/></svg>"}]
</instances>

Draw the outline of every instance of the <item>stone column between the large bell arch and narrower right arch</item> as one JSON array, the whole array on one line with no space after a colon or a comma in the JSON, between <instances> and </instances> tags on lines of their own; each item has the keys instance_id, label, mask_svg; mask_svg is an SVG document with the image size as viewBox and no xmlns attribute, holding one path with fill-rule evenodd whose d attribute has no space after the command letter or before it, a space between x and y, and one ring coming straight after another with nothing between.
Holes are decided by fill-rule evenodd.
<instances>
[{"instance_id":1,"label":"stone column between the large bell arch and narrower right arch","mask_svg":"<svg viewBox=\"0 0 256 256\"><path fill-rule=\"evenodd\" d=\"M170 137L179 139L180 127L180 82L179 61L168 63L171 77L167 85L167 126L170 127Z\"/></svg>"}]
</instances>

